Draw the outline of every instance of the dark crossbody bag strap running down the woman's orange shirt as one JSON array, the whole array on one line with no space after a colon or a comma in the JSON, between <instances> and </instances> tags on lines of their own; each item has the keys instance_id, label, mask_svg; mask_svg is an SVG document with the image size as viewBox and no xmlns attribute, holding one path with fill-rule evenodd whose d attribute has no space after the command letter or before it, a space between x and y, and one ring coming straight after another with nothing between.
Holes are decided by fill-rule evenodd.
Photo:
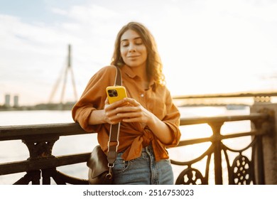
<instances>
[{"instance_id":1,"label":"dark crossbody bag strap running down the woman's orange shirt","mask_svg":"<svg viewBox=\"0 0 277 199\"><path fill-rule=\"evenodd\" d=\"M121 71L118 67L116 67L116 78L114 81L114 85L115 86L122 85ZM119 129L120 129L120 122L119 124L111 124L110 130L109 130L109 142L108 142L108 154L107 154L109 168L112 168L114 166L114 161L116 160L117 147L119 146Z\"/></svg>"}]
</instances>

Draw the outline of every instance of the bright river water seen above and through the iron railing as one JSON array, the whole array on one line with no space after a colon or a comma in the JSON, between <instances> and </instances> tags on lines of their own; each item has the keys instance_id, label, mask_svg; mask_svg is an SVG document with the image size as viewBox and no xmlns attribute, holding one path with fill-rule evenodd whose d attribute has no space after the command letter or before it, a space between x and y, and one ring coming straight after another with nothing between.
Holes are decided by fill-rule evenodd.
<instances>
[{"instance_id":1,"label":"bright river water seen above and through the iron railing","mask_svg":"<svg viewBox=\"0 0 277 199\"><path fill-rule=\"evenodd\" d=\"M185 107L180 108L182 117L209 117L220 115L249 114L249 108L226 109L225 107ZM0 112L0 126L28 125L28 124L53 124L73 122L70 111L9 111ZM181 139L193 139L197 137L210 136L212 130L207 124L189 125L180 127ZM250 131L250 122L227 122L222 126L222 134L232 132ZM250 138L240 138L224 141L224 144L232 146L233 149L241 149L250 142ZM92 151L97 144L96 134L79 136L62 136L53 147L53 155L61 156L65 154L78 154ZM210 146L209 143L194 144L175 149L168 149L170 158L179 161L189 161L202 154ZM28 158L28 149L21 141L0 141L0 163L11 161L22 161ZM212 166L212 165L211 165ZM202 171L204 175L205 160L195 163L195 167ZM173 166L175 178L183 171L183 167ZM226 168L225 168L226 169ZM62 166L58 171L77 178L87 178L87 166L85 163L78 163L71 166ZM226 172L225 172L226 173ZM24 173L0 176L0 184L12 184L21 178ZM224 174L227 176L227 173ZM213 183L213 173L210 173L209 183ZM224 178L227 183L227 177Z\"/></svg>"}]
</instances>

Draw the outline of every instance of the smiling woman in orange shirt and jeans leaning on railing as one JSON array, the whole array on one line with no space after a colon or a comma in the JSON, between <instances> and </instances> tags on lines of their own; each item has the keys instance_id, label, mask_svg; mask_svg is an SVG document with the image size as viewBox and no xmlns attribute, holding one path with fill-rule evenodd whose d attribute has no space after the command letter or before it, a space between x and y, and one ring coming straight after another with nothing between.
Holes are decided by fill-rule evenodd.
<instances>
[{"instance_id":1,"label":"smiling woman in orange shirt and jeans leaning on railing","mask_svg":"<svg viewBox=\"0 0 277 199\"><path fill-rule=\"evenodd\" d=\"M121 70L127 97L108 104L106 87ZM180 113L165 87L156 42L141 23L119 31L112 63L87 84L72 117L85 131L96 131L107 152L110 124L121 122L118 156L112 168L114 184L173 184L166 147L180 141Z\"/></svg>"}]
</instances>

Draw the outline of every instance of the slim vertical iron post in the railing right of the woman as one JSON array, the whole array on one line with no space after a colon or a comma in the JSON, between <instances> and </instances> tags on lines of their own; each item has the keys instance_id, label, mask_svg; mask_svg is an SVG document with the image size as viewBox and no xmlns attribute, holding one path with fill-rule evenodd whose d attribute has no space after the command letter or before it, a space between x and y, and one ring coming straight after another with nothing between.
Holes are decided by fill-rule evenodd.
<instances>
[{"instance_id":1,"label":"slim vertical iron post in the railing right of the woman","mask_svg":"<svg viewBox=\"0 0 277 199\"><path fill-rule=\"evenodd\" d=\"M220 129L223 122L209 123L212 128L212 144L214 144L214 183L222 185L222 156L221 156L221 134Z\"/></svg>"}]
</instances>

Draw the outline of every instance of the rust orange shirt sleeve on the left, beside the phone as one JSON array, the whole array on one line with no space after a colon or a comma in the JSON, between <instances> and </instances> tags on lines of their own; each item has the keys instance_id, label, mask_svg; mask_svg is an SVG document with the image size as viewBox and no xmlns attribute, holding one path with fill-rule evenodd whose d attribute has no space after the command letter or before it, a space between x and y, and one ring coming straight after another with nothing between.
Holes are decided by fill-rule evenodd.
<instances>
[{"instance_id":1,"label":"rust orange shirt sleeve on the left, beside the phone","mask_svg":"<svg viewBox=\"0 0 277 199\"><path fill-rule=\"evenodd\" d=\"M104 109L104 102L107 98L106 87L114 85L115 75L116 68L112 66L106 66L95 73L72 108L73 120L78 122L85 131L98 131L102 126L89 124L89 117L94 110Z\"/></svg>"}]
</instances>

